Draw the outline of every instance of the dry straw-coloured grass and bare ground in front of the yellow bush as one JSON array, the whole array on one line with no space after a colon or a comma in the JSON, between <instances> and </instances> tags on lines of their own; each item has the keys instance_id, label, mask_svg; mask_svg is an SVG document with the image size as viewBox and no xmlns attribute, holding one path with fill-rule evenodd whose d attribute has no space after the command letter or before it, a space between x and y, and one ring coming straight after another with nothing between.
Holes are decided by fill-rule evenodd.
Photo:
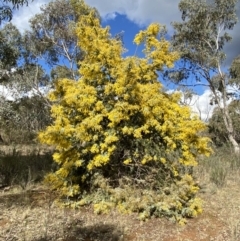
<instances>
[{"instance_id":1,"label":"dry straw-coloured grass and bare ground in front of the yellow bush","mask_svg":"<svg viewBox=\"0 0 240 241\"><path fill-rule=\"evenodd\" d=\"M195 172L204 213L184 227L165 219L140 222L134 214L96 215L91 207L62 209L55 204L54 193L38 185L24 191L0 190L0 240L239 241L239 163L229 153L220 154L203 160ZM227 170L226 175L214 171L217 168Z\"/></svg>"}]
</instances>

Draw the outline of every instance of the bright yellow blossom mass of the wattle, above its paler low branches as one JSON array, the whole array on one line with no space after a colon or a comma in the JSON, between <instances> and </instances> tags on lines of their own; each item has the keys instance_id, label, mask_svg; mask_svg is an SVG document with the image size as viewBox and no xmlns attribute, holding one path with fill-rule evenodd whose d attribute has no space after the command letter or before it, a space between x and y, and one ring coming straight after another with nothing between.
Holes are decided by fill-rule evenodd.
<instances>
[{"instance_id":1,"label":"bright yellow blossom mass of the wattle, above its paler low branches","mask_svg":"<svg viewBox=\"0 0 240 241\"><path fill-rule=\"evenodd\" d=\"M39 134L41 142L56 147L59 169L48 181L64 195L80 194L101 169L111 178L129 170L135 175L139 166L154 163L179 178L182 167L211 153L208 138L199 135L204 123L179 105L179 94L162 90L158 71L173 67L179 55L161 31L152 24L136 36L145 58L124 58L121 41L101 27L94 12L80 17L81 78L56 82L49 95L53 123Z\"/></svg>"}]
</instances>

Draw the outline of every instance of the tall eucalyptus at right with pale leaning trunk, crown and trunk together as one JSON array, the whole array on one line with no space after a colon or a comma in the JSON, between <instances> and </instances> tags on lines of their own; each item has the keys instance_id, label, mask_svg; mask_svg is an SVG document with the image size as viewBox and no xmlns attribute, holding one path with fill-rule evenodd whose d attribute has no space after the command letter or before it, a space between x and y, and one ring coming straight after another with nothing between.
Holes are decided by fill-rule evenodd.
<instances>
[{"instance_id":1,"label":"tall eucalyptus at right with pale leaning trunk, crown and trunk together","mask_svg":"<svg viewBox=\"0 0 240 241\"><path fill-rule=\"evenodd\" d=\"M229 71L223 68L226 58L224 46L231 40L229 30L237 23L237 0L181 0L182 22L174 22L172 44L181 53L181 67L166 72L177 83L207 85L213 101L221 111L228 140L235 153L240 152L229 114ZM234 86L236 86L235 80Z\"/></svg>"}]
</instances>

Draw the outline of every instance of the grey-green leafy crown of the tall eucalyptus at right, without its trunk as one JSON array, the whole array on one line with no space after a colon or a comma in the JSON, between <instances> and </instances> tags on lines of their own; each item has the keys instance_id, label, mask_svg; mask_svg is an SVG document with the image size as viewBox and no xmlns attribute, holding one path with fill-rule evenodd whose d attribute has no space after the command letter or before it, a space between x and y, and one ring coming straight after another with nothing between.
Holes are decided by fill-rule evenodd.
<instances>
[{"instance_id":1,"label":"grey-green leafy crown of the tall eucalyptus at right, without its trunk","mask_svg":"<svg viewBox=\"0 0 240 241\"><path fill-rule=\"evenodd\" d=\"M197 76L199 72L205 76L209 69L217 73L216 68L226 57L223 47L231 40L227 30L233 29L237 23L236 0L182 0L179 10L183 22L173 23L172 43L181 51L183 60L191 63L190 68L184 66L186 69L182 69L182 77L186 79L196 70Z\"/></svg>"}]
</instances>

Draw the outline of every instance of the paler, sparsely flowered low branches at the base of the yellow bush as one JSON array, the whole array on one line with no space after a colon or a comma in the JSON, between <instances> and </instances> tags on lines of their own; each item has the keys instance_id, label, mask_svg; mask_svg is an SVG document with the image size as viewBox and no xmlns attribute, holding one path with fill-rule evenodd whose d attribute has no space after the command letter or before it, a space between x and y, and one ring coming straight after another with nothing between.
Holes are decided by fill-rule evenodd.
<instances>
[{"instance_id":1,"label":"paler, sparsely flowered low branches at the base of the yellow bush","mask_svg":"<svg viewBox=\"0 0 240 241\"><path fill-rule=\"evenodd\" d=\"M126 179L120 179L120 183L120 186L113 188L106 178L96 175L92 187L95 191L83 195L74 204L67 204L78 207L93 203L94 211L98 214L108 213L115 208L121 213L139 213L140 220L165 216L180 224L186 222L183 217L196 217L202 212L202 201L195 197L199 188L190 175L184 175L174 185L162 187L162 190L159 184L156 189L147 188L149 180L141 180L141 187Z\"/></svg>"}]
</instances>

